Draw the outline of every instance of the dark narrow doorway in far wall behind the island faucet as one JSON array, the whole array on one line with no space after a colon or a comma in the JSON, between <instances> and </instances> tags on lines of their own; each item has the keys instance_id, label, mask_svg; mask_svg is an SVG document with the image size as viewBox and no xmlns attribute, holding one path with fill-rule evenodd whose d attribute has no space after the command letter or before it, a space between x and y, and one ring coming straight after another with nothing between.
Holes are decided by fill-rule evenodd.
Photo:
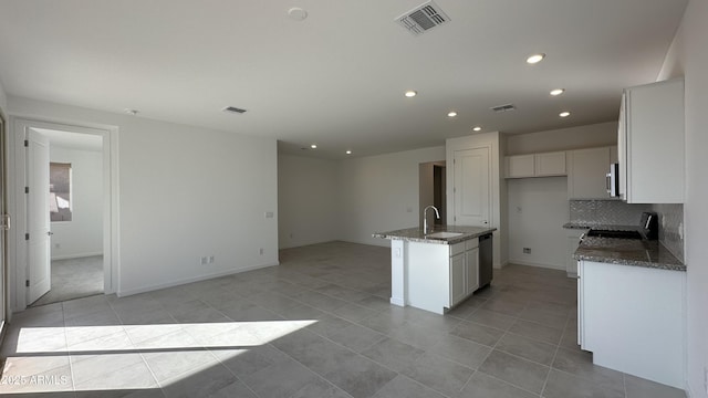
<instances>
[{"instance_id":1,"label":"dark narrow doorway in far wall behind the island faucet","mask_svg":"<svg viewBox=\"0 0 708 398\"><path fill-rule=\"evenodd\" d=\"M440 218L435 218L433 211L428 211L428 226L441 228L447 221L447 201L446 201L446 163L445 160L428 161L419 165L419 227L423 228L423 210L426 206L433 205Z\"/></svg>"}]
</instances>

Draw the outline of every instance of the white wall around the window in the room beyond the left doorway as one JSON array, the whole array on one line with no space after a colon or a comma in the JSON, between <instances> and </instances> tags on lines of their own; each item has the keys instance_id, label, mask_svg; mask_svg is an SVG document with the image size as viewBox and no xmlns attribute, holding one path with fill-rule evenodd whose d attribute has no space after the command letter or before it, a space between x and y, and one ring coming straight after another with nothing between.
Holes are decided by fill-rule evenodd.
<instances>
[{"instance_id":1,"label":"white wall around the window in the room beyond the left doorway","mask_svg":"<svg viewBox=\"0 0 708 398\"><path fill-rule=\"evenodd\" d=\"M50 161L71 164L72 220L52 222L52 260L103 253L103 156L50 146Z\"/></svg>"}]
</instances>

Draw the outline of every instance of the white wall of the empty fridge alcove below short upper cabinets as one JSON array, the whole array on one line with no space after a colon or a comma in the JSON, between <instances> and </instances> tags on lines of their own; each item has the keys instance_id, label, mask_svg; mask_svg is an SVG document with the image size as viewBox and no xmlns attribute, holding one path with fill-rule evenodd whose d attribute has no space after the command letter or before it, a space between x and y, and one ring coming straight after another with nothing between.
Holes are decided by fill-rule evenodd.
<instances>
[{"instance_id":1,"label":"white wall of the empty fridge alcove below short upper cabinets","mask_svg":"<svg viewBox=\"0 0 708 398\"><path fill-rule=\"evenodd\" d=\"M514 178L507 180L507 188L509 262L565 270L568 178Z\"/></svg>"}]
</instances>

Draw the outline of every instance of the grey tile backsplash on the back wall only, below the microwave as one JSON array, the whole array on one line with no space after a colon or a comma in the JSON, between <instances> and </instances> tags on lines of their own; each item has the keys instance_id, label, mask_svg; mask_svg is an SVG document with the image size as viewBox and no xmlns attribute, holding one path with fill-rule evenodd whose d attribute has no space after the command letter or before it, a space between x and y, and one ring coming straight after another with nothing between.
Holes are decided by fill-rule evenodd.
<instances>
[{"instance_id":1,"label":"grey tile backsplash on the back wall only, below the microwave","mask_svg":"<svg viewBox=\"0 0 708 398\"><path fill-rule=\"evenodd\" d=\"M638 226L642 212L652 205L627 205L620 200L571 200L571 222L586 224Z\"/></svg>"}]
</instances>

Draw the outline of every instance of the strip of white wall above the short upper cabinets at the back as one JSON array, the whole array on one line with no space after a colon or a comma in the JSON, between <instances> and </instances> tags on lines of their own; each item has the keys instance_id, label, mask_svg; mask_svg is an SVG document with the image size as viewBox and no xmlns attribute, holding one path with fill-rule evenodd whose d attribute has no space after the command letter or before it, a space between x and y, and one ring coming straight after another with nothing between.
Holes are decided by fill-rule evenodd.
<instances>
[{"instance_id":1,"label":"strip of white wall above the short upper cabinets at the back","mask_svg":"<svg viewBox=\"0 0 708 398\"><path fill-rule=\"evenodd\" d=\"M620 101L617 101L620 116ZM506 155L534 154L617 145L617 122L521 134L507 138Z\"/></svg>"}]
</instances>

